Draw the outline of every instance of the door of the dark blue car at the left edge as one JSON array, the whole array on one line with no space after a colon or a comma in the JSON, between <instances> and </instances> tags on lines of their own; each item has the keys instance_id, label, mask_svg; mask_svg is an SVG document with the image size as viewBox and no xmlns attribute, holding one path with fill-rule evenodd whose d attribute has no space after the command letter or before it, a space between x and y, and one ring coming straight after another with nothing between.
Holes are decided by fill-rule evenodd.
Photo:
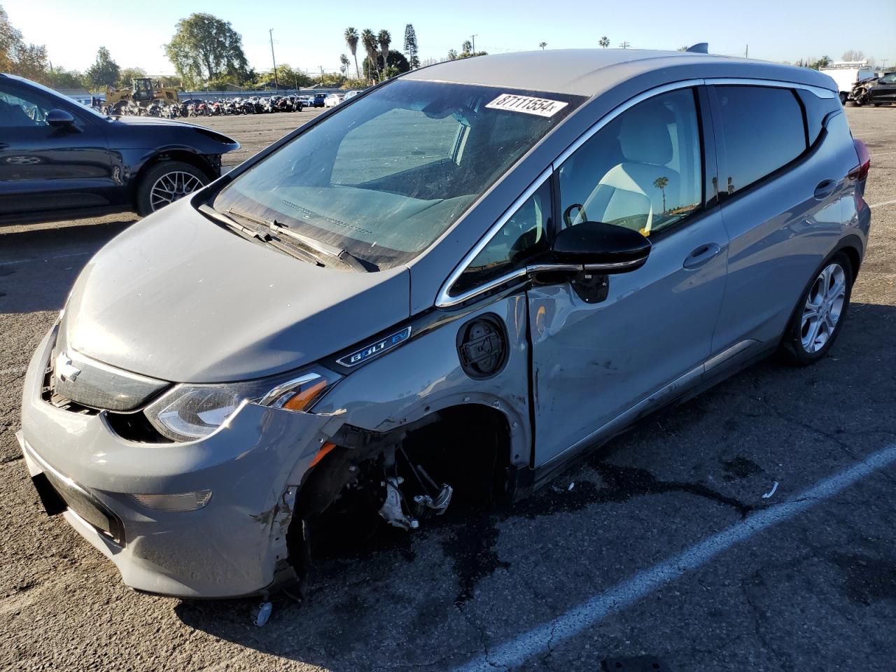
<instances>
[{"instance_id":1,"label":"door of the dark blue car at the left edge","mask_svg":"<svg viewBox=\"0 0 896 672\"><path fill-rule=\"evenodd\" d=\"M51 109L72 127L47 124ZM0 215L108 204L112 162L102 120L51 94L0 79Z\"/></svg>"}]
</instances>

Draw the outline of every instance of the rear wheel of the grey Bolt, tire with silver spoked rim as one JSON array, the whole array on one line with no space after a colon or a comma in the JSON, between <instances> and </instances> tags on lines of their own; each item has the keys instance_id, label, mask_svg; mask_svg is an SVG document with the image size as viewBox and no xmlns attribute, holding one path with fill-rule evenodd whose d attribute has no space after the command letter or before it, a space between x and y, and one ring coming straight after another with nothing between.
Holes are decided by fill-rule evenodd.
<instances>
[{"instance_id":1,"label":"rear wheel of the grey Bolt, tire with silver spoked rim","mask_svg":"<svg viewBox=\"0 0 896 672\"><path fill-rule=\"evenodd\" d=\"M854 276L843 252L829 257L815 271L781 339L780 354L785 361L808 366L827 355L846 321Z\"/></svg>"}]
</instances>

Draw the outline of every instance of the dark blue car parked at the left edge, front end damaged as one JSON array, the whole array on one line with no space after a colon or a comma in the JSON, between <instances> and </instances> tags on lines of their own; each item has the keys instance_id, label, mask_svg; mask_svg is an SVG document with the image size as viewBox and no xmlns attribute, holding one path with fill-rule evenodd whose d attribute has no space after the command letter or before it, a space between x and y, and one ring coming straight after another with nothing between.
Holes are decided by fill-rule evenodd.
<instances>
[{"instance_id":1,"label":"dark blue car parked at the left edge, front end damaged","mask_svg":"<svg viewBox=\"0 0 896 672\"><path fill-rule=\"evenodd\" d=\"M220 176L239 143L158 117L111 118L0 74L0 219L157 211Z\"/></svg>"}]
</instances>

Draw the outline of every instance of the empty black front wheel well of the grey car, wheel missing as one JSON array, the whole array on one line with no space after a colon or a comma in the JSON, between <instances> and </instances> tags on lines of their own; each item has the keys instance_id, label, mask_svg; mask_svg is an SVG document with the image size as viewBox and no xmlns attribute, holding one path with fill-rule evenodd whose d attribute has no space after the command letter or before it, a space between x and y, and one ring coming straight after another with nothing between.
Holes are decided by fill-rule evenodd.
<instances>
[{"instance_id":1,"label":"empty black front wheel well of the grey car, wheel missing","mask_svg":"<svg viewBox=\"0 0 896 672\"><path fill-rule=\"evenodd\" d=\"M511 434L496 409L475 404L441 409L383 435L356 429L340 435L342 443L354 444L322 450L298 491L287 538L290 562L303 578L313 556L349 550L375 534L383 524L378 512L390 474L400 478L406 504L415 495L435 495L444 484L453 489L447 509L452 513L507 498ZM421 524L426 523L421 519Z\"/></svg>"}]
</instances>

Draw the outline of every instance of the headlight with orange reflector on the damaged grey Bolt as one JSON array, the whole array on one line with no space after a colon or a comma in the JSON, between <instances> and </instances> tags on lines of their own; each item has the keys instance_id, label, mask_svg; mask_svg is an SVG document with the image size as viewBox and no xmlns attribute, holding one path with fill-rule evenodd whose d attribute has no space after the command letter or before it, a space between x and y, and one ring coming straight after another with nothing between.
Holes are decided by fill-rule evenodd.
<instances>
[{"instance_id":1,"label":"headlight with orange reflector on the damaged grey Bolt","mask_svg":"<svg viewBox=\"0 0 896 672\"><path fill-rule=\"evenodd\" d=\"M275 409L310 409L341 376L323 368L245 383L183 383L144 411L159 434L172 441L195 441L210 435L237 412L244 401Z\"/></svg>"}]
</instances>

